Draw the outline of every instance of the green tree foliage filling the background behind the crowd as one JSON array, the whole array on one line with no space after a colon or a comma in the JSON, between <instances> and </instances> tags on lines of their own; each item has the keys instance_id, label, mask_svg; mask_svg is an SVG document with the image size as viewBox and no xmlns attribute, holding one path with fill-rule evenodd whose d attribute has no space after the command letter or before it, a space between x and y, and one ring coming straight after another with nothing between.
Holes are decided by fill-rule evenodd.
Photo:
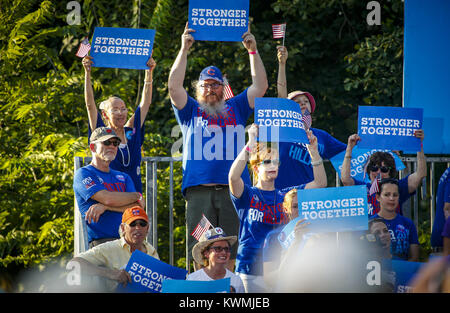
<instances>
[{"instance_id":1,"label":"green tree foliage filling the background behind the crowd","mask_svg":"<svg viewBox=\"0 0 450 313\"><path fill-rule=\"evenodd\" d=\"M187 21L187 0L85 0L81 24L69 25L68 1L3 0L0 8L0 275L73 252L73 158L89 156L83 69L75 56L96 26L156 29L153 102L144 156L170 156L180 139L167 92L170 67ZM287 23L288 90L310 91L314 124L346 142L360 104L400 105L403 1L383 1L381 26L368 26L366 1L251 1L251 30L276 96L278 63L271 24ZM196 42L185 86L205 66L222 69L235 93L251 84L242 44ZM143 71L94 68L95 99L111 94L135 108ZM175 127L175 128L174 128ZM168 261L169 183L158 165L159 253ZM175 262L184 267L184 200L175 163ZM12 273L12 274L11 274Z\"/></svg>"}]
</instances>

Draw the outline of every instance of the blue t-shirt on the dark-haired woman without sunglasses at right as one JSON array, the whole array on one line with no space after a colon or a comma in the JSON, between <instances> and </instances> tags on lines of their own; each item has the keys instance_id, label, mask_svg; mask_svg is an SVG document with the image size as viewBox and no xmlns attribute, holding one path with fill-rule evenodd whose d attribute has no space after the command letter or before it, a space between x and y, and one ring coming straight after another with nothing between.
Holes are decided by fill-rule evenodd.
<instances>
[{"instance_id":1,"label":"blue t-shirt on the dark-haired woman without sunglasses at right","mask_svg":"<svg viewBox=\"0 0 450 313\"><path fill-rule=\"evenodd\" d=\"M381 217L375 214L373 218ZM408 260L411 244L419 244L414 222L400 214L392 220L383 218L391 234L391 254L394 260Z\"/></svg>"}]
</instances>

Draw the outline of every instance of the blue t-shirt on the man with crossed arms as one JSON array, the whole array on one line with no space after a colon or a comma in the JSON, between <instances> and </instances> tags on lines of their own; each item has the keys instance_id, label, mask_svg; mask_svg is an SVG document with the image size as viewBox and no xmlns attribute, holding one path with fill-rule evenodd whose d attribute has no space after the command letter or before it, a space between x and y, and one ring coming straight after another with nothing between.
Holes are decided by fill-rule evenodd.
<instances>
[{"instance_id":1,"label":"blue t-shirt on the man with crossed arms","mask_svg":"<svg viewBox=\"0 0 450 313\"><path fill-rule=\"evenodd\" d=\"M91 197L101 190L117 192L135 192L133 181L125 173L110 169L102 172L92 165L86 165L75 172L73 190L81 216L86 218L86 212L91 205L98 203ZM101 238L119 238L119 226L122 223L122 213L106 210L97 223L86 223L88 241Z\"/></svg>"}]
</instances>

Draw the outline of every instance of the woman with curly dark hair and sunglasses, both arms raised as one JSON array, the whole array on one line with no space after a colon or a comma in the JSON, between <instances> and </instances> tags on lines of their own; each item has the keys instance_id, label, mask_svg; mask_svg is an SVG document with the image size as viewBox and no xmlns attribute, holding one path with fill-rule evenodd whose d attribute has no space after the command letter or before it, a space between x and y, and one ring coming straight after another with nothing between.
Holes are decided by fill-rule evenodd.
<instances>
[{"instance_id":1,"label":"woman with curly dark hair and sunglasses, both arms raised","mask_svg":"<svg viewBox=\"0 0 450 313\"><path fill-rule=\"evenodd\" d=\"M419 129L414 132L414 136L420 138L421 142L424 139L423 130ZM344 162L341 168L341 181L344 186L366 185L367 186L367 200L369 204L369 217L380 211L380 203L378 202L375 193L370 193L370 187L377 177L396 178L397 169L395 167L394 157L388 152L377 151L373 153L366 166L366 174L370 179L370 183L353 179L350 175L350 164L352 158L352 150L361 138L357 134L348 137L347 150L345 151ZM402 204L408 200L419 187L422 179L427 176L427 161L423 148L417 152L417 170L398 181L399 187L399 201L395 208L396 213L402 215Z\"/></svg>"}]
</instances>

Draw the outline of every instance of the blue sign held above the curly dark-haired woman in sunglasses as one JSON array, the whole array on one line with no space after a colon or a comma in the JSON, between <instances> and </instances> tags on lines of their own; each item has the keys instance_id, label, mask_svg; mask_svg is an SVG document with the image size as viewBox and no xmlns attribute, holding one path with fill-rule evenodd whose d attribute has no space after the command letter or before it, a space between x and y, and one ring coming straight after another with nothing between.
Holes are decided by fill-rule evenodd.
<instances>
[{"instance_id":1,"label":"blue sign held above the curly dark-haired woman in sunglasses","mask_svg":"<svg viewBox=\"0 0 450 313\"><path fill-rule=\"evenodd\" d=\"M423 109L359 106L360 148L420 151L414 131L422 129Z\"/></svg>"}]
</instances>

